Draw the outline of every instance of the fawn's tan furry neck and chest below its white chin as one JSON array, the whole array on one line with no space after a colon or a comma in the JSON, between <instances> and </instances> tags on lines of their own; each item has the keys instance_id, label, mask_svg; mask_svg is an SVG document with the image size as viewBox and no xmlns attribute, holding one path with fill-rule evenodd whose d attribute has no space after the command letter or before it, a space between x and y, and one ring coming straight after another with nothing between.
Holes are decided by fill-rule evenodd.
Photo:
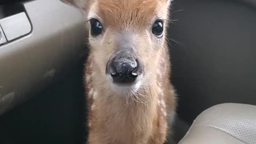
<instances>
[{"instance_id":1,"label":"fawn's tan furry neck and chest below its white chin","mask_svg":"<svg viewBox=\"0 0 256 144\"><path fill-rule=\"evenodd\" d=\"M162 63L161 60L156 63L156 66L162 67L160 63ZM87 64L89 64L87 66L92 66L93 63L90 63L89 60ZM156 69L156 71L158 70ZM86 73L91 74L93 79L92 71L89 70ZM92 126L90 129L100 131L102 135L107 133L106 137L111 135L111 139L117 140L117 143L143 143L138 140L149 139L156 127L159 127L159 121L165 123L165 121L159 120L159 117L161 119L166 117L166 114L163 115L165 109L161 107L161 103L164 103L163 95L161 91L159 92L161 78L157 72L151 78L152 83L140 90L137 97L118 95L111 92L110 87L106 89L107 85L102 86L102 83L97 83L97 81L90 83L90 80L86 79L90 103L89 126L90 124ZM89 87L90 85L92 86ZM165 124L161 124L161 126L162 130L167 129ZM112 143L116 143L116 141Z\"/></svg>"}]
</instances>

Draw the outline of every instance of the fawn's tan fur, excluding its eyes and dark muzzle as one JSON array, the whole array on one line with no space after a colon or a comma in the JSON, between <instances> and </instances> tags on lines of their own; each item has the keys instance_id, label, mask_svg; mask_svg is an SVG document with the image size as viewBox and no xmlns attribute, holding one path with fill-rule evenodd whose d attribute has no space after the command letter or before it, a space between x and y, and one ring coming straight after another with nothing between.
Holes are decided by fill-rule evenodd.
<instances>
[{"instance_id":1,"label":"fawn's tan fur, excluding its eyes and dark muzzle","mask_svg":"<svg viewBox=\"0 0 256 144\"><path fill-rule=\"evenodd\" d=\"M167 118L175 114L176 106L169 81L171 64L165 35L156 39L146 31L150 32L157 18L168 19L167 0L88 0L86 4L89 19L97 14L104 30L98 38L89 37L90 53L85 65L88 143L163 144L168 133ZM123 34L133 37L132 43L145 65L142 85L131 97L113 92L105 78L107 62Z\"/></svg>"}]
</instances>

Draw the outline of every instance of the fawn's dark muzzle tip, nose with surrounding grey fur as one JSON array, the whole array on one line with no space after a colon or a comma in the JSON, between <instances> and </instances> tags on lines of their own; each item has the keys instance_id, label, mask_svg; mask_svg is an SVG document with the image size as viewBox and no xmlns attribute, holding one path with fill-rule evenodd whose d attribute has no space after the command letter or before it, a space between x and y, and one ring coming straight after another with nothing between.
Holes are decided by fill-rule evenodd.
<instances>
[{"instance_id":1,"label":"fawn's dark muzzle tip, nose with surrounding grey fur","mask_svg":"<svg viewBox=\"0 0 256 144\"><path fill-rule=\"evenodd\" d=\"M114 83L129 84L142 74L142 69L140 60L134 54L123 51L109 60L106 73L111 75Z\"/></svg>"}]
</instances>

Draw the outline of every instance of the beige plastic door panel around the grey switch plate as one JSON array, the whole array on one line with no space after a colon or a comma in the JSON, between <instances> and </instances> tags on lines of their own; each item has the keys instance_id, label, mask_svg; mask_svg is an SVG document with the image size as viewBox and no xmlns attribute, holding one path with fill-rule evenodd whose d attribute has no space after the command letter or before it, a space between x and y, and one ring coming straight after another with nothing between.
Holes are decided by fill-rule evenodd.
<instances>
[{"instance_id":1,"label":"beige plastic door panel around the grey switch plate","mask_svg":"<svg viewBox=\"0 0 256 144\"><path fill-rule=\"evenodd\" d=\"M86 49L81 11L58 0L23 5L33 29L0 47L0 115L70 71Z\"/></svg>"}]
</instances>

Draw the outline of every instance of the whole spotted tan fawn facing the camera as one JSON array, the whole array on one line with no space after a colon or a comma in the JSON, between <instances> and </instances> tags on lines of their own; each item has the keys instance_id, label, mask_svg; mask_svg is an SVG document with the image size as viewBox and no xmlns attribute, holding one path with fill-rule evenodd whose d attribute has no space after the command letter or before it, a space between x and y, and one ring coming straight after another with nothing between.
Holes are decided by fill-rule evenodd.
<instances>
[{"instance_id":1,"label":"whole spotted tan fawn facing the camera","mask_svg":"<svg viewBox=\"0 0 256 144\"><path fill-rule=\"evenodd\" d=\"M171 0L61 0L86 15L89 144L163 144L175 115Z\"/></svg>"}]
</instances>

